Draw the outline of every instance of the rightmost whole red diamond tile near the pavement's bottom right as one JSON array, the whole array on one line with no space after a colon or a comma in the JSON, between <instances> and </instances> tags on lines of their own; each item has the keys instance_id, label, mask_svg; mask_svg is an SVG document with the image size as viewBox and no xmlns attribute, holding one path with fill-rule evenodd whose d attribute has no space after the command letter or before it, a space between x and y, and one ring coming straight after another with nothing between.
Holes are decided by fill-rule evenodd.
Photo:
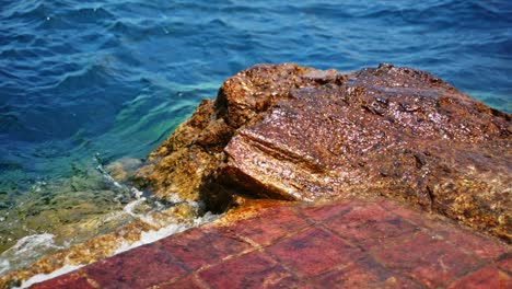
<instances>
[{"instance_id":1,"label":"rightmost whole red diamond tile near the pavement's bottom right","mask_svg":"<svg viewBox=\"0 0 512 289\"><path fill-rule=\"evenodd\" d=\"M430 288L470 271L479 263L457 247L426 234L388 248L379 257Z\"/></svg>"}]
</instances>

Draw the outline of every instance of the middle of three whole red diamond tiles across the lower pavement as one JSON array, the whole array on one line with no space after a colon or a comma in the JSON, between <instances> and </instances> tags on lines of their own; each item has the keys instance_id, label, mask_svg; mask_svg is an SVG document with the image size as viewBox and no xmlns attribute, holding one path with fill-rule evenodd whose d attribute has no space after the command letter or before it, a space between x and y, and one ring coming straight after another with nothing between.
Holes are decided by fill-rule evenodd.
<instances>
[{"instance_id":1,"label":"middle of three whole red diamond tiles across the lower pavement","mask_svg":"<svg viewBox=\"0 0 512 289\"><path fill-rule=\"evenodd\" d=\"M306 277L313 277L362 256L359 248L319 228L288 238L267 247L266 251Z\"/></svg>"}]
</instances>

